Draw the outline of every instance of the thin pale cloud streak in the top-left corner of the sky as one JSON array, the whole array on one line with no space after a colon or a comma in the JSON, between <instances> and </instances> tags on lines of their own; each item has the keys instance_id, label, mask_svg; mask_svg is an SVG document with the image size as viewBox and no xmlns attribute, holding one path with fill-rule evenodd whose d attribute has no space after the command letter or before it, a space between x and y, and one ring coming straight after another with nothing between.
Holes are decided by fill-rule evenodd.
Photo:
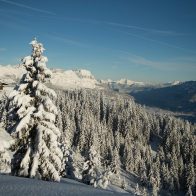
<instances>
[{"instance_id":1,"label":"thin pale cloud streak in the top-left corner of the sky","mask_svg":"<svg viewBox=\"0 0 196 196\"><path fill-rule=\"evenodd\" d=\"M15 5L17 7L21 7L21 8L25 8L25 9L29 9L31 11L35 11L35 12L39 12L39 13L44 13L44 14L50 14L50 15L55 15L55 13L50 12L48 10L44 10L44 9L39 9L39 8L35 8L32 6L28 6L22 3L16 3L10 0L0 0L1 2L7 3L7 4L11 4L11 5Z\"/></svg>"}]
</instances>

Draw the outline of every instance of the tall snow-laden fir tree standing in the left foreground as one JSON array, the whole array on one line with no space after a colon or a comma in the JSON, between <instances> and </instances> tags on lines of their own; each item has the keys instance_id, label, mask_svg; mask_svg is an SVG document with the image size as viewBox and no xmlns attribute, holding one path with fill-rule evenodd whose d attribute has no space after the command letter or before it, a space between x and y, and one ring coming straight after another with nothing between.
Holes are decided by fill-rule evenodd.
<instances>
[{"instance_id":1,"label":"tall snow-laden fir tree standing in the left foreground","mask_svg":"<svg viewBox=\"0 0 196 196\"><path fill-rule=\"evenodd\" d=\"M12 173L18 176L60 181L62 152L60 131L55 126L57 108L54 90L44 83L51 77L43 45L34 39L32 54L22 59L26 69L20 84L10 94L9 131L16 139Z\"/></svg>"}]
</instances>

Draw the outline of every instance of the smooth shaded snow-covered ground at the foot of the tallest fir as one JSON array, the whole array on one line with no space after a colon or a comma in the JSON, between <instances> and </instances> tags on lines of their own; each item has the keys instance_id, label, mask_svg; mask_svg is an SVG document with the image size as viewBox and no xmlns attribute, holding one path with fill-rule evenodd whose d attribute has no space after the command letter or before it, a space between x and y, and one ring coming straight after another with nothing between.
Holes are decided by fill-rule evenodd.
<instances>
[{"instance_id":1,"label":"smooth shaded snow-covered ground at the foot of the tallest fir","mask_svg":"<svg viewBox=\"0 0 196 196\"><path fill-rule=\"evenodd\" d=\"M62 178L60 183L41 181L36 179L0 175L1 196L112 196L127 195L109 190L96 189L80 182ZM130 195L130 194L129 194Z\"/></svg>"}]
</instances>

